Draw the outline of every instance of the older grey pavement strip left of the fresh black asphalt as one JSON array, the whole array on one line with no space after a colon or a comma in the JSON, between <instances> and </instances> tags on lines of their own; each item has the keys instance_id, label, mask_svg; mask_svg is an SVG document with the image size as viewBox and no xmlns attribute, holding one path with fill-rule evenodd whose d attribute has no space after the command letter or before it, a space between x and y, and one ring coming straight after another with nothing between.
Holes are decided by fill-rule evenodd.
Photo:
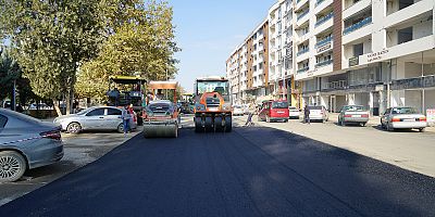
<instances>
[{"instance_id":1,"label":"older grey pavement strip left of the fresh black asphalt","mask_svg":"<svg viewBox=\"0 0 435 217\"><path fill-rule=\"evenodd\" d=\"M128 135L127 139L139 131ZM126 139L116 132L87 132L62 133L62 140L64 156L61 162L28 170L18 181L1 183L0 206L98 159Z\"/></svg>"}]
</instances>

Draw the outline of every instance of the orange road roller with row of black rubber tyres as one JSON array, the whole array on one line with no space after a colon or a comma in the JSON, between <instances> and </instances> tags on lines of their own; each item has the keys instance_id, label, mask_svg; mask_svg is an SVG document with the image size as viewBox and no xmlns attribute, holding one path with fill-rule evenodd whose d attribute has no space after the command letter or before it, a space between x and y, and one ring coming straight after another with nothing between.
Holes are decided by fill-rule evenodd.
<instances>
[{"instance_id":1,"label":"orange road roller with row of black rubber tyres","mask_svg":"<svg viewBox=\"0 0 435 217\"><path fill-rule=\"evenodd\" d=\"M229 84L225 77L197 78L195 81L195 131L232 131Z\"/></svg>"}]
</instances>

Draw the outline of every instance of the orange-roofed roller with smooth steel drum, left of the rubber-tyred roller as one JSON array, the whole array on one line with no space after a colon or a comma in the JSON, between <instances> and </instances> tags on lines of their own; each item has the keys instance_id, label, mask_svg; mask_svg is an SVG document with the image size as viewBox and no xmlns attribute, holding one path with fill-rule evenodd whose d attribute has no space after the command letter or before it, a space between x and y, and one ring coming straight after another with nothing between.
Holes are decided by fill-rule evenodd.
<instances>
[{"instance_id":1,"label":"orange-roofed roller with smooth steel drum, left of the rubber-tyred roller","mask_svg":"<svg viewBox=\"0 0 435 217\"><path fill-rule=\"evenodd\" d=\"M147 106L142 112L145 138L178 137L181 119L176 106L177 86L176 81L150 81L148 84L150 92L147 95ZM166 94L163 94L162 90L165 90ZM173 101L165 99L171 97Z\"/></svg>"}]
</instances>

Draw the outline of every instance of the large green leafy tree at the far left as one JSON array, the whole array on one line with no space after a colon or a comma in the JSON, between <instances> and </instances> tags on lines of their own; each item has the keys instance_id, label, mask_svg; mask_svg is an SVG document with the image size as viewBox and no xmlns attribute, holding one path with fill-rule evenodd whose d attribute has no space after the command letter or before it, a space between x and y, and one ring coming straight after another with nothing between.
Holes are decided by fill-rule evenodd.
<instances>
[{"instance_id":1,"label":"large green leafy tree at the far left","mask_svg":"<svg viewBox=\"0 0 435 217\"><path fill-rule=\"evenodd\" d=\"M0 0L0 36L10 38L32 89L53 101L65 98L67 113L77 68L98 53L109 31L104 24L112 20L100 9L112 2L101 2Z\"/></svg>"}]
</instances>

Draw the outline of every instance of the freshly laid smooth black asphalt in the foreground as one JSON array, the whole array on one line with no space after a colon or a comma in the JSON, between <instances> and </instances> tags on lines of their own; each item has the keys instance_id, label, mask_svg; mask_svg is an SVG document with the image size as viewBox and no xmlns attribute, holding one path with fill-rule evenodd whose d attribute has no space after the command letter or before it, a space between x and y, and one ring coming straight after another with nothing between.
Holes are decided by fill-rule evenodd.
<instances>
[{"instance_id":1,"label":"freshly laid smooth black asphalt in the foreground","mask_svg":"<svg viewBox=\"0 0 435 217\"><path fill-rule=\"evenodd\" d=\"M435 216L435 179L272 128L140 135L0 216Z\"/></svg>"}]
</instances>

